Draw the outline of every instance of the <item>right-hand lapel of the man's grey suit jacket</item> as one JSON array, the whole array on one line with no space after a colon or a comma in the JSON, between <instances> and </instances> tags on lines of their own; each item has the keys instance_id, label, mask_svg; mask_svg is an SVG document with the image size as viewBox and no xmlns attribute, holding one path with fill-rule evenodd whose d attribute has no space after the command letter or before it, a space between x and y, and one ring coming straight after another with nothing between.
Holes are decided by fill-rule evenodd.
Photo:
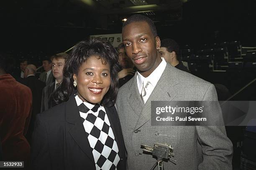
<instances>
[{"instance_id":1,"label":"right-hand lapel of the man's grey suit jacket","mask_svg":"<svg viewBox=\"0 0 256 170\"><path fill-rule=\"evenodd\" d=\"M175 67L169 65L168 63L166 64L166 68L157 82L156 87L152 91L144 107L142 107L141 115L138 118L134 130L137 130L146 122L151 120L151 101L174 100L177 95L179 85L177 76L174 74L175 69Z\"/></svg>"}]
</instances>

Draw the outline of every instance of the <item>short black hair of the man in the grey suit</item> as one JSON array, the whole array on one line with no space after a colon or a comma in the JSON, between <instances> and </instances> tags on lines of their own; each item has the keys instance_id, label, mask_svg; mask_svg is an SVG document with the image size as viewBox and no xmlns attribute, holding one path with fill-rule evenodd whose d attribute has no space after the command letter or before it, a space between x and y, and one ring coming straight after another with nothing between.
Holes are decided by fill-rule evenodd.
<instances>
[{"instance_id":1,"label":"short black hair of the man in the grey suit","mask_svg":"<svg viewBox=\"0 0 256 170\"><path fill-rule=\"evenodd\" d=\"M154 22L150 18L146 17L145 15L139 15L139 14L132 15L131 17L129 17L123 23L123 28L126 25L129 25L129 24L134 23L134 22L146 22L146 23L148 23L148 26L149 26L151 32L153 33L154 37L157 36L156 26L154 25Z\"/></svg>"}]
</instances>

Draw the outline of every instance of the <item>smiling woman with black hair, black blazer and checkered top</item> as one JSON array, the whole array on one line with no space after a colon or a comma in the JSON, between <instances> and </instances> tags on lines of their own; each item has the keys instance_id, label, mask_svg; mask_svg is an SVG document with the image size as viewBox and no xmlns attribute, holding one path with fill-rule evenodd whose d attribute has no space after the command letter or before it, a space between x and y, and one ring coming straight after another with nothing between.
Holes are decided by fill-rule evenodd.
<instances>
[{"instance_id":1,"label":"smiling woman with black hair, black blazer and checkered top","mask_svg":"<svg viewBox=\"0 0 256 170\"><path fill-rule=\"evenodd\" d=\"M114 107L117 53L99 39L79 42L54 93L56 103L37 117L32 168L123 170L125 147Z\"/></svg>"}]
</instances>

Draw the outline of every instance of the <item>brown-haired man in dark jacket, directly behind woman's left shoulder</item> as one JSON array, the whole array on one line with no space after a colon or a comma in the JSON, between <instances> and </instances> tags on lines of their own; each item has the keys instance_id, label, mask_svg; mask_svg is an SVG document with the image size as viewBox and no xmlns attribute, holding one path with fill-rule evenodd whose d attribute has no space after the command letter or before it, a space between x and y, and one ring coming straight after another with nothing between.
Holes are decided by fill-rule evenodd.
<instances>
[{"instance_id":1,"label":"brown-haired man in dark jacket, directly behind woman's left shoulder","mask_svg":"<svg viewBox=\"0 0 256 170\"><path fill-rule=\"evenodd\" d=\"M64 52L51 57L51 69L55 78L55 82L52 82L51 84L44 87L41 100L41 112L44 112L44 110L48 110L55 105L51 98L51 94L61 84L63 79L63 68L68 57L69 55Z\"/></svg>"}]
</instances>

